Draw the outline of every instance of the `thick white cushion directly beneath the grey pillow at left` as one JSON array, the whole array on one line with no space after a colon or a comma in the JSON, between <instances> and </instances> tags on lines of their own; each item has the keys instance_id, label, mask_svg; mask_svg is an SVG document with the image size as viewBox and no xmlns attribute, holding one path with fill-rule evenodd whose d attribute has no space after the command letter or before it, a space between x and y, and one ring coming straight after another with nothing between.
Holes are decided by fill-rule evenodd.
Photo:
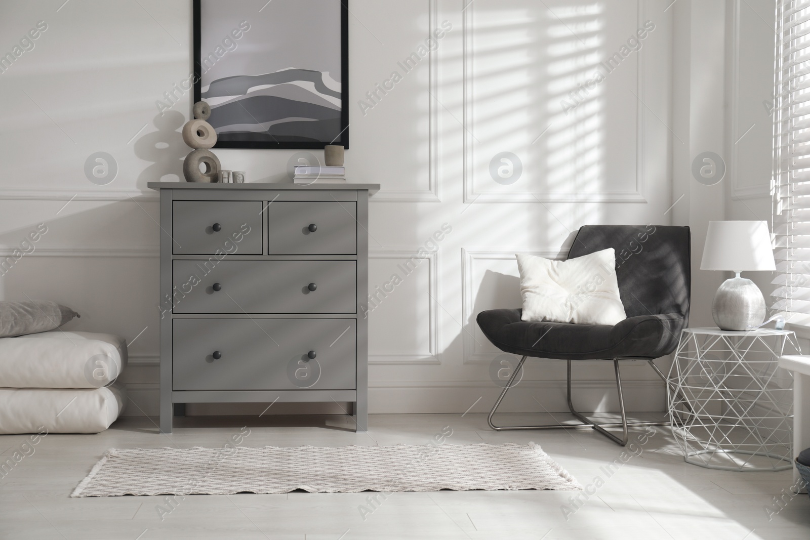
<instances>
[{"instance_id":1,"label":"thick white cushion directly beneath the grey pillow at left","mask_svg":"<svg viewBox=\"0 0 810 540\"><path fill-rule=\"evenodd\" d=\"M0 387L99 388L126 367L126 342L113 334L53 330L0 338Z\"/></svg>"}]
</instances>

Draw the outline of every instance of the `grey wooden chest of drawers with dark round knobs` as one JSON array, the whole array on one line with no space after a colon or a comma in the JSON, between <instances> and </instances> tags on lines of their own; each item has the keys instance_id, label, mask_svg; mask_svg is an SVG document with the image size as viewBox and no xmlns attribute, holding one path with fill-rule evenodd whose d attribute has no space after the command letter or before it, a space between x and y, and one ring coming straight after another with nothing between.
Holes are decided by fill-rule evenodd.
<instances>
[{"instance_id":1,"label":"grey wooden chest of drawers with dark round knobs","mask_svg":"<svg viewBox=\"0 0 810 540\"><path fill-rule=\"evenodd\" d=\"M175 403L348 402L368 418L369 192L377 184L160 191L160 431Z\"/></svg>"}]
</instances>

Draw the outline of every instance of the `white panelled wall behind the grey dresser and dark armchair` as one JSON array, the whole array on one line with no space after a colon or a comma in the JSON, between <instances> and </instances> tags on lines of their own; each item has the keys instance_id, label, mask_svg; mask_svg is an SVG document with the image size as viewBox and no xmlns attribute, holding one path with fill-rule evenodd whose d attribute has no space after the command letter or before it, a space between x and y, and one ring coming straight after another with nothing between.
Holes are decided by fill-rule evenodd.
<instances>
[{"instance_id":1,"label":"white panelled wall behind the grey dresser and dark armchair","mask_svg":"<svg viewBox=\"0 0 810 540\"><path fill-rule=\"evenodd\" d=\"M125 378L136 405L128 414L154 414L159 236L146 183L177 180L189 151L178 131L189 96L163 117L155 102L190 73L190 2L62 2L0 4L0 52L37 21L48 24L36 47L0 74L2 249L37 223L49 227L0 277L0 296L69 305L83 315L72 330L132 340L145 328L130 347ZM353 181L382 184L370 209L370 288L402 276L403 259L443 223L452 227L435 256L369 316L371 412L463 413L474 403L473 411L488 410L499 390L489 367L499 353L475 314L519 305L514 253L565 254L582 224L668 224L681 211L667 211L675 200L672 147L680 144L669 3L475 0L464 8L457 0L352 0L346 165ZM642 49L563 113L561 100L576 83L591 79L646 20L655 29ZM361 113L357 100L444 21L452 30L437 51ZM109 185L84 176L96 151L117 160ZM503 151L523 164L511 185L488 172ZM289 181L295 151L216 153L249 181ZM694 224L694 216L684 219ZM583 410L615 409L606 364L577 365ZM537 398L564 410L563 366L532 362L505 406L541 410ZM663 409L663 385L649 368L628 364L624 379L632 409Z\"/></svg>"}]
</instances>

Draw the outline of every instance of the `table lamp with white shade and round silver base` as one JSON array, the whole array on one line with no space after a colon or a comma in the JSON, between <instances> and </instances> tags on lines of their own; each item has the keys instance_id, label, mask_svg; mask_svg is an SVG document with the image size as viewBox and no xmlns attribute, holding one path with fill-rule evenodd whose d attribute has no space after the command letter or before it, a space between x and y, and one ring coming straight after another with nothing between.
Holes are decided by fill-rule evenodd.
<instances>
[{"instance_id":1,"label":"table lamp with white shade and round silver base","mask_svg":"<svg viewBox=\"0 0 810 540\"><path fill-rule=\"evenodd\" d=\"M747 270L776 270L768 223L764 221L710 221L701 270L731 270L714 294L711 314L720 330L752 330L765 321L765 298Z\"/></svg>"}]
</instances>

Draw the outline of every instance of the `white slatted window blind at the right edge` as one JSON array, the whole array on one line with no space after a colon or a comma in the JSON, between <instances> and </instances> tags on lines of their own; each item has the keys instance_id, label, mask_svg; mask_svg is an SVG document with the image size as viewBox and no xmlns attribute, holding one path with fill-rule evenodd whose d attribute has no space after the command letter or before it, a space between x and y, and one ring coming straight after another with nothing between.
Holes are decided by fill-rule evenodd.
<instances>
[{"instance_id":1,"label":"white slatted window blind at the right edge","mask_svg":"<svg viewBox=\"0 0 810 540\"><path fill-rule=\"evenodd\" d=\"M777 0L776 25L771 308L810 325L810 0Z\"/></svg>"}]
</instances>

